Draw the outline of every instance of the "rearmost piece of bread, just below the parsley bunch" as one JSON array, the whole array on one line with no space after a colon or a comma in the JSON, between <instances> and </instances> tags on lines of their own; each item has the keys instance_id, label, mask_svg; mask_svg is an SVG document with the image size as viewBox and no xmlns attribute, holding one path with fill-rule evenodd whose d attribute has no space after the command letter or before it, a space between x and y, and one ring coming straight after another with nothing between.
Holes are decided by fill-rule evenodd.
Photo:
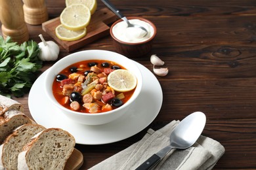
<instances>
[{"instance_id":1,"label":"rearmost piece of bread, just below the parsley bunch","mask_svg":"<svg viewBox=\"0 0 256 170\"><path fill-rule=\"evenodd\" d=\"M0 116L4 114L7 110L11 109L24 112L24 107L20 103L18 103L18 101L14 101L9 97L0 95Z\"/></svg>"}]
</instances>

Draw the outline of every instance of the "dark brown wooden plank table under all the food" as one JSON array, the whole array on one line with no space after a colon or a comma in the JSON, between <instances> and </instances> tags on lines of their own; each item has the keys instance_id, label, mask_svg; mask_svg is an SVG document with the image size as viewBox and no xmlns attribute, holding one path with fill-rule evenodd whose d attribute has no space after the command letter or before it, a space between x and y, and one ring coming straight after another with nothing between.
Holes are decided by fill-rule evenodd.
<instances>
[{"instance_id":1,"label":"dark brown wooden plank table under all the food","mask_svg":"<svg viewBox=\"0 0 256 170\"><path fill-rule=\"evenodd\" d=\"M136 2L136 3L135 3ZM123 141L75 147L83 152L81 169L88 169L139 141L148 128L159 129L200 110L207 116L203 135L226 149L214 169L256 169L256 2L112 0L126 16L142 16L156 24L152 54L160 56L169 74L158 77L163 105L157 118L137 135ZM64 1L47 1L50 18L60 15ZM98 0L98 9L104 4ZM52 40L41 25L28 25L30 39L39 33ZM79 50L115 51L110 36ZM59 58L69 53L61 47ZM150 71L149 57L137 58ZM45 62L45 71L54 62ZM28 109L28 95L18 98Z\"/></svg>"}]
</instances>

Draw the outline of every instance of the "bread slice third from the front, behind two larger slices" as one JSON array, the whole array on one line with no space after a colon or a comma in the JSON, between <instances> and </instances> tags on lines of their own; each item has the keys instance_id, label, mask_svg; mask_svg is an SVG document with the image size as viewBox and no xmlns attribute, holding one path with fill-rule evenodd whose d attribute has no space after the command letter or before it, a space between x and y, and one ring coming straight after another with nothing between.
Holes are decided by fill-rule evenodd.
<instances>
[{"instance_id":1,"label":"bread slice third from the front, behind two larger slices","mask_svg":"<svg viewBox=\"0 0 256 170\"><path fill-rule=\"evenodd\" d=\"M19 110L11 109L2 114L0 116L0 144L16 127L24 124L35 124L35 122Z\"/></svg>"}]
</instances>

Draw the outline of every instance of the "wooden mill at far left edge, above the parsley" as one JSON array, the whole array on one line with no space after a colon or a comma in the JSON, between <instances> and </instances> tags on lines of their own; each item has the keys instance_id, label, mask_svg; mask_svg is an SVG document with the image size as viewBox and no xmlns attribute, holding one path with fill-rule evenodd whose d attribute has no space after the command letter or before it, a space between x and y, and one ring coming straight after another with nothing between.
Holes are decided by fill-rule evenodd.
<instances>
[{"instance_id":1,"label":"wooden mill at far left edge, above the parsley","mask_svg":"<svg viewBox=\"0 0 256 170\"><path fill-rule=\"evenodd\" d=\"M28 27L24 21L21 0L0 0L0 20L4 38L9 36L19 44L28 41Z\"/></svg>"}]
</instances>

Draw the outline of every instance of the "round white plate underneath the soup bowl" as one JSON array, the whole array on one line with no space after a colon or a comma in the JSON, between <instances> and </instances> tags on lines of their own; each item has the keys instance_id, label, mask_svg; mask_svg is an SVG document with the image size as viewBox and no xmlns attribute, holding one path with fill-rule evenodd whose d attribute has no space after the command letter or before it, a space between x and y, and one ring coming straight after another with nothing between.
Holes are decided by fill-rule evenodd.
<instances>
[{"instance_id":1,"label":"round white plate underneath the soup bowl","mask_svg":"<svg viewBox=\"0 0 256 170\"><path fill-rule=\"evenodd\" d=\"M127 139L142 131L156 118L163 101L163 93L156 76L140 63L137 65L143 76L142 91L129 109L129 114L125 114L114 122L87 126L77 124L62 115L61 110L54 107L43 92L45 73L37 78L30 90L28 96L30 113L37 124L47 128L59 127L68 131L75 137L78 144L107 144Z\"/></svg>"}]
</instances>

